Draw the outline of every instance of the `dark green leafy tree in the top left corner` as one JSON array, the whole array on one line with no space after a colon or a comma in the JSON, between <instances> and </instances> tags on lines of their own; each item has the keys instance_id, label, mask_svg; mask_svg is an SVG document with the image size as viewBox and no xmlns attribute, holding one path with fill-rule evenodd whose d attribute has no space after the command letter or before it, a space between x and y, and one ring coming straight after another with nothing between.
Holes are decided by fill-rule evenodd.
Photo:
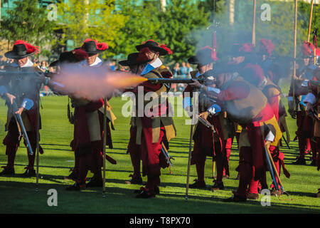
<instances>
[{"instance_id":1,"label":"dark green leafy tree in the top left corner","mask_svg":"<svg viewBox=\"0 0 320 228\"><path fill-rule=\"evenodd\" d=\"M46 56L48 42L53 38L55 21L48 21L48 10L38 0L14 1L14 9L1 16L0 38L12 43L18 39L40 46L41 55Z\"/></svg>"}]
</instances>

